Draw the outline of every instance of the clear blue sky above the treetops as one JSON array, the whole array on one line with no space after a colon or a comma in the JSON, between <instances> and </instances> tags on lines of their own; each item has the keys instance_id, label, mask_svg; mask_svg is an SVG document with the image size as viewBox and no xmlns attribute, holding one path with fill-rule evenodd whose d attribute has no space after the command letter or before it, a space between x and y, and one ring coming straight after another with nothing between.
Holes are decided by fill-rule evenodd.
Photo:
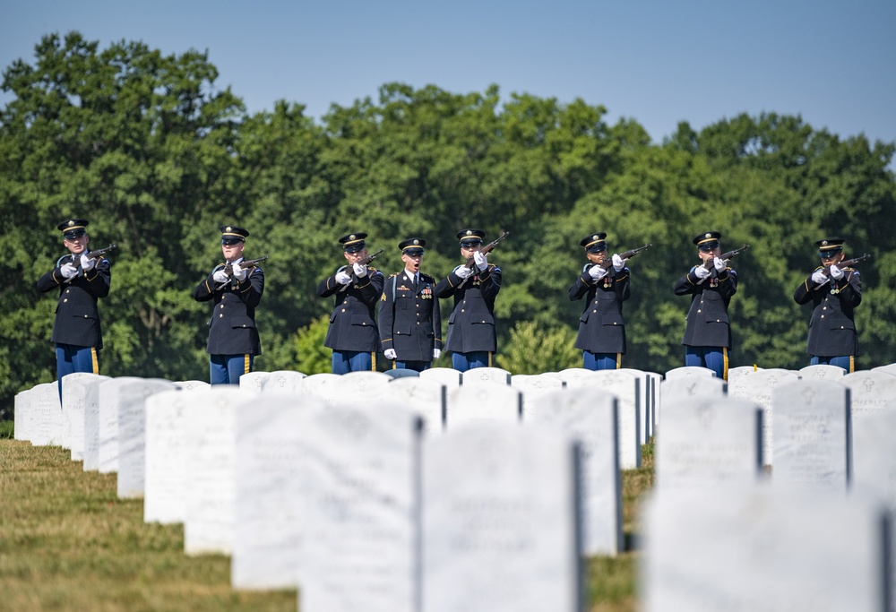
<instances>
[{"instance_id":1,"label":"clear blue sky above the treetops","mask_svg":"<svg viewBox=\"0 0 896 612\"><path fill-rule=\"evenodd\" d=\"M385 82L584 99L654 142L765 112L896 141L896 0L5 0L0 66L42 35L209 52L250 112L322 116ZM9 97L0 93L0 103Z\"/></svg>"}]
</instances>

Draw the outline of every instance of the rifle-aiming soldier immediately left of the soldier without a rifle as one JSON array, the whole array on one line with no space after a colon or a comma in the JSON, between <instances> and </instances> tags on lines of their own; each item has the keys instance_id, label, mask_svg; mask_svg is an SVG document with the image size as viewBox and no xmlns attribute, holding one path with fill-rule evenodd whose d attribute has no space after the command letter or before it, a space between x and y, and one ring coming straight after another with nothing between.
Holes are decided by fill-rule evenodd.
<instances>
[{"instance_id":1,"label":"rifle-aiming soldier immediately left of the soldier without a rifle","mask_svg":"<svg viewBox=\"0 0 896 612\"><path fill-rule=\"evenodd\" d=\"M323 346L333 349L333 374L376 369L380 336L374 309L383 295L383 272L358 263L367 256L366 237L363 232L340 237L349 263L317 285L318 296L336 296L330 328L323 340Z\"/></svg>"}]
</instances>

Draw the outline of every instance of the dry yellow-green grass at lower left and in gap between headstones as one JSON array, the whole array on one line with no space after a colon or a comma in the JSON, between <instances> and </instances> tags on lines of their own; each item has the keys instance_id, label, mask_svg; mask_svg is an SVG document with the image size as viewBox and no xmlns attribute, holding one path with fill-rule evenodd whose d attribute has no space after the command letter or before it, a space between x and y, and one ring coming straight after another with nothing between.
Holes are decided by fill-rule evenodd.
<instances>
[{"instance_id":1,"label":"dry yellow-green grass at lower left and in gap between headstones","mask_svg":"<svg viewBox=\"0 0 896 612\"><path fill-rule=\"evenodd\" d=\"M185 556L183 526L144 523L142 500L118 499L114 474L84 472L69 456L0 440L0 610L297 609L295 590L232 590L229 557ZM626 541L652 486L652 447L642 457L623 474ZM636 609L637 556L588 559L590 612Z\"/></svg>"}]
</instances>

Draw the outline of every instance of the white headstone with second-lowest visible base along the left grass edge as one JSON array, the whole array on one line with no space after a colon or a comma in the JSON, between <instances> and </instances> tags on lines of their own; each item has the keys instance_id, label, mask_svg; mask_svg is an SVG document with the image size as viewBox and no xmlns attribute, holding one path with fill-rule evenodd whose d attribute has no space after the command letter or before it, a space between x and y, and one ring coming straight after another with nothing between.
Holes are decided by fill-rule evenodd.
<instances>
[{"instance_id":1,"label":"white headstone with second-lowest visible base along the left grass edge","mask_svg":"<svg viewBox=\"0 0 896 612\"><path fill-rule=\"evenodd\" d=\"M254 392L229 384L190 392L199 401L184 411L184 552L229 555L233 551L237 497L237 406Z\"/></svg>"}]
</instances>

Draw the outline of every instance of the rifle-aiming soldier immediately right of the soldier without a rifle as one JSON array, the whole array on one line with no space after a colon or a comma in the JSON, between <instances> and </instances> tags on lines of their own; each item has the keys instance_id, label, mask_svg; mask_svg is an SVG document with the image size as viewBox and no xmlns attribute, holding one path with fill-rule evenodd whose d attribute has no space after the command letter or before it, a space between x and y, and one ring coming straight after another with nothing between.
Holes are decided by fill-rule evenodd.
<instances>
[{"instance_id":1,"label":"rifle-aiming soldier immediately right of the soldier without a rifle","mask_svg":"<svg viewBox=\"0 0 896 612\"><path fill-rule=\"evenodd\" d=\"M485 236L481 229L461 229L457 238L464 263L435 286L435 297L454 297L445 349L451 351L452 367L459 372L491 367L497 349L495 297L501 290L501 268L480 253ZM470 260L472 266L467 264Z\"/></svg>"}]
</instances>

